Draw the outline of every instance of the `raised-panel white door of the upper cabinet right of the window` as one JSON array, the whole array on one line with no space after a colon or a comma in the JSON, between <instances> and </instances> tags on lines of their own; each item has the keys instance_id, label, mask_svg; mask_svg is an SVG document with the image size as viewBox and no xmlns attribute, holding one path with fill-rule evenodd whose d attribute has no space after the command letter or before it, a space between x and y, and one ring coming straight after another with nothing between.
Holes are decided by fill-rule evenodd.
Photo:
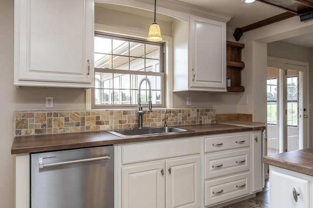
<instances>
[{"instance_id":1,"label":"raised-panel white door of the upper cabinet right of the window","mask_svg":"<svg viewBox=\"0 0 313 208\"><path fill-rule=\"evenodd\" d=\"M226 91L226 23L190 17L192 88Z\"/></svg>"}]
</instances>

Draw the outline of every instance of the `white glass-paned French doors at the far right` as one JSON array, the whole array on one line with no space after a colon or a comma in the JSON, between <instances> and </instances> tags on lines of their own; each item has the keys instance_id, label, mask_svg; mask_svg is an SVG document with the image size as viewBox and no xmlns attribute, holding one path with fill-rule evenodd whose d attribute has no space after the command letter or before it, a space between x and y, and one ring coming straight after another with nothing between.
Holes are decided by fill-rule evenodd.
<instances>
[{"instance_id":1,"label":"white glass-paned French doors at the far right","mask_svg":"<svg viewBox=\"0 0 313 208\"><path fill-rule=\"evenodd\" d=\"M268 155L303 149L306 141L305 66L268 62Z\"/></svg>"}]
</instances>

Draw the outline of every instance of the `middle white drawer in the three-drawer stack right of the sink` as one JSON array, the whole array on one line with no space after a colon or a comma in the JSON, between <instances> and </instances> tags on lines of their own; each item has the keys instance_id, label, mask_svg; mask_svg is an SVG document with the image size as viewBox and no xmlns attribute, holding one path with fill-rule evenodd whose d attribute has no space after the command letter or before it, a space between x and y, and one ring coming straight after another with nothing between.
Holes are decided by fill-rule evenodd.
<instances>
[{"instance_id":1,"label":"middle white drawer in the three-drawer stack right of the sink","mask_svg":"<svg viewBox=\"0 0 313 208\"><path fill-rule=\"evenodd\" d=\"M249 152L249 149L241 149L204 155L205 179L249 170Z\"/></svg>"}]
</instances>

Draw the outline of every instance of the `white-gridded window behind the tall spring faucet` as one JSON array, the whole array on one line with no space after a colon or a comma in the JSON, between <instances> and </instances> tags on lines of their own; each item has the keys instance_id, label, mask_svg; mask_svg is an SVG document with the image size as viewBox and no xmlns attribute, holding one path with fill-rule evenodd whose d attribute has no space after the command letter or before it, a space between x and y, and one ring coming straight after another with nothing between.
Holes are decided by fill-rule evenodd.
<instances>
[{"instance_id":1,"label":"white-gridded window behind the tall spring faucet","mask_svg":"<svg viewBox=\"0 0 313 208\"><path fill-rule=\"evenodd\" d=\"M164 107L163 43L95 34L95 89L93 108L134 107L138 103L138 84L151 81L154 107ZM149 86L141 86L141 103L148 102Z\"/></svg>"}]
</instances>

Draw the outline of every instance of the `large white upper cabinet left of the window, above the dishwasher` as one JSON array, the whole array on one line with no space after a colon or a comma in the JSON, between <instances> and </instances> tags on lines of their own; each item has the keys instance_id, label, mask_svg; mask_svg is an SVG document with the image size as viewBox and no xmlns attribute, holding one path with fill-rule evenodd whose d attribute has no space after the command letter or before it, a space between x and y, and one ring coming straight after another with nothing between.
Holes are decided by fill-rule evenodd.
<instances>
[{"instance_id":1,"label":"large white upper cabinet left of the window, above the dishwasher","mask_svg":"<svg viewBox=\"0 0 313 208\"><path fill-rule=\"evenodd\" d=\"M15 0L14 85L94 85L93 0Z\"/></svg>"}]
</instances>

